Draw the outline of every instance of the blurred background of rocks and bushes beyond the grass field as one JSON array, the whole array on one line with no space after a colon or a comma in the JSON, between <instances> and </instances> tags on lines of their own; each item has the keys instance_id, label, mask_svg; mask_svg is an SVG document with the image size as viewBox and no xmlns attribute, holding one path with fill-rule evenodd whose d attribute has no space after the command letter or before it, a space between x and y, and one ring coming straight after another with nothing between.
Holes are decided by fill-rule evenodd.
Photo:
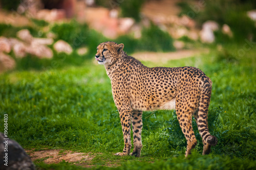
<instances>
[{"instance_id":1,"label":"blurred background of rocks and bushes beyond the grass field","mask_svg":"<svg viewBox=\"0 0 256 170\"><path fill-rule=\"evenodd\" d=\"M255 47L255 9L252 0L1 0L0 72L81 65L103 41L129 55L216 47L237 60L246 49L223 46Z\"/></svg>"}]
</instances>

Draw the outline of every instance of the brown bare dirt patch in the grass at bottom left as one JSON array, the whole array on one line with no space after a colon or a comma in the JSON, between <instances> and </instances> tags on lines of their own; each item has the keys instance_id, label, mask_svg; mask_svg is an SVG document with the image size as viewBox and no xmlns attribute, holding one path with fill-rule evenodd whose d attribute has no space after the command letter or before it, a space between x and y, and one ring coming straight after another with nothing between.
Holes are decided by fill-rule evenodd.
<instances>
[{"instance_id":1,"label":"brown bare dirt patch in the grass at bottom left","mask_svg":"<svg viewBox=\"0 0 256 170\"><path fill-rule=\"evenodd\" d=\"M91 161L95 156L91 153L80 153L63 150L44 150L44 151L26 151L32 161L45 162L47 164L59 163L65 160L66 162Z\"/></svg>"}]
</instances>

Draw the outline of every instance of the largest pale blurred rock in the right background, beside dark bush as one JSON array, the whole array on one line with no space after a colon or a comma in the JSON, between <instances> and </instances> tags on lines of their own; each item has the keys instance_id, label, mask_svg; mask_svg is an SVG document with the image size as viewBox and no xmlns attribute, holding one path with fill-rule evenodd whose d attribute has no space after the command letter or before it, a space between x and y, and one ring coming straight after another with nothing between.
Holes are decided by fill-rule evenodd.
<instances>
[{"instance_id":1,"label":"largest pale blurred rock in the right background, beside dark bush","mask_svg":"<svg viewBox=\"0 0 256 170\"><path fill-rule=\"evenodd\" d=\"M203 23L202 30L200 31L201 41L204 43L212 43L215 40L214 31L219 29L219 25L215 21L206 21Z\"/></svg>"}]
</instances>

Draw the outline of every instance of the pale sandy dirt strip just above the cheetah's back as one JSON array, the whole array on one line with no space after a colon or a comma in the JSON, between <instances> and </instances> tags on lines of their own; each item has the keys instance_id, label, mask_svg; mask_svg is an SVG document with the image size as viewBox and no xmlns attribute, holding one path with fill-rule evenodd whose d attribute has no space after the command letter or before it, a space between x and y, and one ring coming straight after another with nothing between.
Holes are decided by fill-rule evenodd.
<instances>
[{"instance_id":1,"label":"pale sandy dirt strip just above the cheetah's back","mask_svg":"<svg viewBox=\"0 0 256 170\"><path fill-rule=\"evenodd\" d=\"M140 52L134 53L132 56L138 60L152 61L152 62L166 62L168 60L175 60L193 56L200 56L201 54L209 53L208 49L202 50L181 50L176 52L158 53L158 52Z\"/></svg>"}]
</instances>

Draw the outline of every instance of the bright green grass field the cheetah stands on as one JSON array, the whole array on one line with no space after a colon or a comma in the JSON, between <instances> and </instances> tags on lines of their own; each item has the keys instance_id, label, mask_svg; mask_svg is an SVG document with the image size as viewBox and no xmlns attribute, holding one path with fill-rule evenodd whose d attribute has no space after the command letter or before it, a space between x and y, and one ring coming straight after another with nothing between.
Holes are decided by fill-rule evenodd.
<instances>
[{"instance_id":1,"label":"bright green grass field the cheetah stands on","mask_svg":"<svg viewBox=\"0 0 256 170\"><path fill-rule=\"evenodd\" d=\"M78 67L0 75L0 125L8 114L9 137L25 149L96 155L92 161L77 163L80 166L38 160L39 169L254 169L256 48L245 55L238 55L243 44L222 52L211 49L206 55L167 63L143 62L150 67L196 66L210 77L210 133L219 141L210 155L201 155L203 144L196 132L198 145L185 159L186 141L175 112L156 111L143 113L141 157L114 156L123 149L119 114L110 80L104 67L94 64L93 56Z\"/></svg>"}]
</instances>

